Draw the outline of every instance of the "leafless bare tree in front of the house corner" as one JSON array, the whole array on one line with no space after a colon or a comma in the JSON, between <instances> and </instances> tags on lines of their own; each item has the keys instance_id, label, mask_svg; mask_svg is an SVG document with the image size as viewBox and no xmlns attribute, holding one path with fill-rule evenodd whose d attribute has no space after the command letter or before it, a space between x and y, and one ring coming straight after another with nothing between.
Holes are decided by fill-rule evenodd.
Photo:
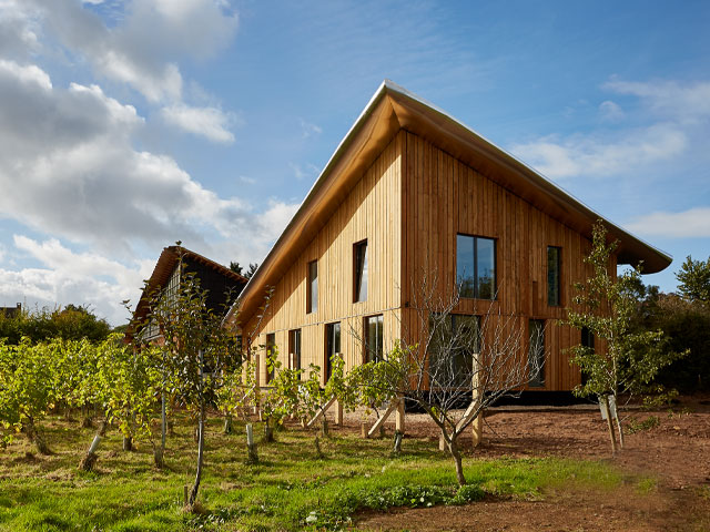
<instances>
[{"instance_id":1,"label":"leafless bare tree in front of the house corner","mask_svg":"<svg viewBox=\"0 0 710 532\"><path fill-rule=\"evenodd\" d=\"M379 362L396 370L382 371L376 386L407 397L432 418L465 484L459 437L498 399L544 378L544 329L528 338L526 319L501 314L495 300L459 314L460 287L446 294L434 275L424 275L412 293L403 341Z\"/></svg>"}]
</instances>

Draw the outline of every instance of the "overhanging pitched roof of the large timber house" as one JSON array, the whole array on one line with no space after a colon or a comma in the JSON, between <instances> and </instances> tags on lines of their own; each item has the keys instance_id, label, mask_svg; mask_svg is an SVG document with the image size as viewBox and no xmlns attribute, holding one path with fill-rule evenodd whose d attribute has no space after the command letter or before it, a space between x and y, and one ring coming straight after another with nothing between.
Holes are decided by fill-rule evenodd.
<instances>
[{"instance_id":1,"label":"overhanging pitched roof of the large timber house","mask_svg":"<svg viewBox=\"0 0 710 532\"><path fill-rule=\"evenodd\" d=\"M426 139L588 238L591 238L595 222L602 219L610 237L619 241L619 264L636 265L643 262L643 272L652 274L666 268L672 260L667 253L609 222L445 111L385 80L341 141L301 207L242 290L226 320L234 320L237 306L245 319L256 311L263 304L266 287L275 285L285 274L363 172L402 129Z\"/></svg>"}]
</instances>

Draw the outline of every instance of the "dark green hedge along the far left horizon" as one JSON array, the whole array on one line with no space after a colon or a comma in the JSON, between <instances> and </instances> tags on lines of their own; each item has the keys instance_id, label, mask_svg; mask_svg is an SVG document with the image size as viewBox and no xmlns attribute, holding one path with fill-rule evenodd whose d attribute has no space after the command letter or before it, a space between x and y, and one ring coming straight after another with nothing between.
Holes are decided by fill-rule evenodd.
<instances>
[{"instance_id":1,"label":"dark green hedge along the far left horizon","mask_svg":"<svg viewBox=\"0 0 710 532\"><path fill-rule=\"evenodd\" d=\"M18 345L23 337L32 344L54 338L81 340L87 338L100 342L108 338L111 326L98 318L88 307L67 305L53 310L42 308L22 311L11 317L0 313L0 338L8 344Z\"/></svg>"}]
</instances>

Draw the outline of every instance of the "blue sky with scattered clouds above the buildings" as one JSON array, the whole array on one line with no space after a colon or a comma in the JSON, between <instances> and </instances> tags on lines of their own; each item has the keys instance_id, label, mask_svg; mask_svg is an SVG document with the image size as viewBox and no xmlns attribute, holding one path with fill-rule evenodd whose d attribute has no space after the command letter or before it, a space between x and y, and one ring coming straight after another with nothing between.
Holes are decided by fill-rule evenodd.
<instances>
[{"instance_id":1,"label":"blue sky with scattered clouds above the buildings","mask_svg":"<svg viewBox=\"0 0 710 532\"><path fill-rule=\"evenodd\" d=\"M680 8L680 9L679 9ZM0 306L125 323L261 262L384 79L673 263L710 256L710 3L0 0Z\"/></svg>"}]
</instances>

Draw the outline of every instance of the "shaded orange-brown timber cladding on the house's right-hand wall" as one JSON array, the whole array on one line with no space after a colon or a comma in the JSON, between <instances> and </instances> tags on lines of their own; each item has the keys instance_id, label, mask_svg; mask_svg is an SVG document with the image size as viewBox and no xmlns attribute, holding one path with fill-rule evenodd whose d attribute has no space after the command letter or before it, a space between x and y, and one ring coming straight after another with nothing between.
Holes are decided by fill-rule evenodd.
<instances>
[{"instance_id":1,"label":"shaded orange-brown timber cladding on the house's right-hand wall","mask_svg":"<svg viewBox=\"0 0 710 532\"><path fill-rule=\"evenodd\" d=\"M589 273L584 264L589 241L409 132L405 133L402 190L404 341L417 336L416 314L407 307L416 304L424 276L436 277L442 294L454 287L457 233L495 238L496 300L464 299L456 311L484 315L490 306L493 315L516 316L525 344L521 362L527 359L529 319L544 319L545 386L537 389L570 390L579 383L579 369L570 366L569 355L562 351L580 342L580 332L557 320L572 306L574 284ZM561 248L559 306L547 300L548 246Z\"/></svg>"}]
</instances>

